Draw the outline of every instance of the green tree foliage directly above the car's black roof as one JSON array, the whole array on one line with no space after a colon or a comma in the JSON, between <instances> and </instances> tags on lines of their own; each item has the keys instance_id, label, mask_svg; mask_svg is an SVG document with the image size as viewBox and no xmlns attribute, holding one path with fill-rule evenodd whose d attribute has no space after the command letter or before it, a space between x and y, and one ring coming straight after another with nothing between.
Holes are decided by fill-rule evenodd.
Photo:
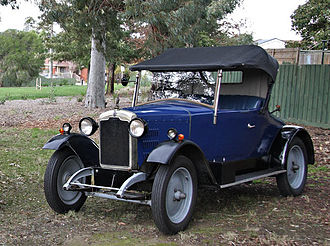
<instances>
[{"instance_id":1,"label":"green tree foliage directly above the car's black roof","mask_svg":"<svg viewBox=\"0 0 330 246\"><path fill-rule=\"evenodd\" d=\"M144 51L155 56L170 47L214 46L248 42L231 39L219 24L232 13L240 0L128 0L127 14L137 32L142 33ZM234 40L236 40L234 42ZM230 41L230 42L229 42ZM236 44L235 43L235 44Z\"/></svg>"}]
</instances>

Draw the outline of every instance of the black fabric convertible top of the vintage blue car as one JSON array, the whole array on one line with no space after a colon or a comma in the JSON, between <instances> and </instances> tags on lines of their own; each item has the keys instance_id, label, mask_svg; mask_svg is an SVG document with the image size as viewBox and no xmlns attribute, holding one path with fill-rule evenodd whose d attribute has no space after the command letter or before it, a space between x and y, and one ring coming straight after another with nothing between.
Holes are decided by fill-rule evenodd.
<instances>
[{"instance_id":1,"label":"black fabric convertible top of the vintage blue car","mask_svg":"<svg viewBox=\"0 0 330 246\"><path fill-rule=\"evenodd\" d=\"M256 45L168 49L163 54L130 67L132 71L199 71L260 69L273 81L278 62Z\"/></svg>"}]
</instances>

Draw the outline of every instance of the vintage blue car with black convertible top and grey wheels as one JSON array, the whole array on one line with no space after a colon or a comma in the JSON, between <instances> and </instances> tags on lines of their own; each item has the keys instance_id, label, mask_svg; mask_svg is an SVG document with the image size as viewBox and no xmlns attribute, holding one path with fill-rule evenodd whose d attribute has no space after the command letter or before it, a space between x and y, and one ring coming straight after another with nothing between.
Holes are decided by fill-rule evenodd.
<instances>
[{"instance_id":1,"label":"vintage blue car with black convertible top and grey wheels","mask_svg":"<svg viewBox=\"0 0 330 246\"><path fill-rule=\"evenodd\" d=\"M64 123L45 144L56 150L44 179L54 211L77 211L88 196L146 204L159 230L174 234L188 226L202 186L275 177L281 195L303 192L313 143L272 115L279 108L269 111L278 63L262 48L169 49L130 69L131 107L81 119L80 134ZM100 146L88 137L97 130Z\"/></svg>"}]
</instances>

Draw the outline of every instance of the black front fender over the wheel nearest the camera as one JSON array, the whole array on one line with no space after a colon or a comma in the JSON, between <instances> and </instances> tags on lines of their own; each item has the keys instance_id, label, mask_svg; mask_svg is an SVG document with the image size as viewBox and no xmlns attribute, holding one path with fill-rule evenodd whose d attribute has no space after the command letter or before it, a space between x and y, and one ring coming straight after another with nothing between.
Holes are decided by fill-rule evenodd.
<instances>
[{"instance_id":1,"label":"black front fender over the wheel nearest the camera","mask_svg":"<svg viewBox=\"0 0 330 246\"><path fill-rule=\"evenodd\" d=\"M194 163L198 173L199 183L209 184L211 182L211 184L217 184L203 151L196 143L190 140L179 142L166 141L159 144L151 151L144 164L158 163L161 165L169 165L178 154L185 155Z\"/></svg>"}]
</instances>

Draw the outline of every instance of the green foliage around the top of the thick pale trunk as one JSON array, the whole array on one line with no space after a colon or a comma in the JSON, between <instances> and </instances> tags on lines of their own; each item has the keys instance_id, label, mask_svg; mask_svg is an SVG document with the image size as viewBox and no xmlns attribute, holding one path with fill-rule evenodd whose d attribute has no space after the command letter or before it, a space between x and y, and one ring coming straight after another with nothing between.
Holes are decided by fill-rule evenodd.
<instances>
[{"instance_id":1,"label":"green foliage around the top of the thick pale trunk","mask_svg":"<svg viewBox=\"0 0 330 246\"><path fill-rule=\"evenodd\" d=\"M46 0L39 7L42 11L40 28L45 31L47 46L54 50L54 59L73 60L87 67L92 34L108 62L122 63L136 57L135 49L129 44L130 31L123 25L123 1ZM49 35L54 22L63 31Z\"/></svg>"}]
</instances>

